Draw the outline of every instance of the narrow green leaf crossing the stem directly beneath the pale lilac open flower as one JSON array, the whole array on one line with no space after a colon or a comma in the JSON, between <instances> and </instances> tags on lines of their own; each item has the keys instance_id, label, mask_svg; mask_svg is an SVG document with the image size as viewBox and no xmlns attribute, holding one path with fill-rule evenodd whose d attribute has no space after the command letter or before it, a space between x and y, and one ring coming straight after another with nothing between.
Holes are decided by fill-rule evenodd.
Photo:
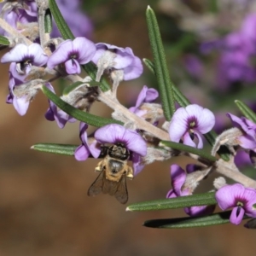
<instances>
[{"instance_id":1,"label":"narrow green leaf crossing the stem directly beneath the pale lilac open flower","mask_svg":"<svg viewBox=\"0 0 256 256\"><path fill-rule=\"evenodd\" d=\"M199 155L202 158L210 160L212 162L217 160L211 154L207 154L205 149L194 148L194 147L190 147L190 146L184 145L182 143L173 143L173 142L169 142L169 141L161 141L160 142L160 146L161 146L161 144L164 145L164 146L167 146L169 148L173 148L173 149L177 149L177 150L180 150L180 151L189 152L191 154Z\"/></svg>"}]
</instances>

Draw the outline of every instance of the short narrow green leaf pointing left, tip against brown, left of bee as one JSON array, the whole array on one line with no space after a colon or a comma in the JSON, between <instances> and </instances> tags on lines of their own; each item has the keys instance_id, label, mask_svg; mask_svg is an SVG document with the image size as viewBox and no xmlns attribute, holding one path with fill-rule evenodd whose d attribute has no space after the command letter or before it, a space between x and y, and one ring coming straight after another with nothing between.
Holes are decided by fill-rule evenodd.
<instances>
[{"instance_id":1,"label":"short narrow green leaf pointing left, tip against brown, left of bee","mask_svg":"<svg viewBox=\"0 0 256 256\"><path fill-rule=\"evenodd\" d=\"M67 145L67 144L54 144L54 143L37 143L31 148L41 152L47 152L52 154L65 154L73 155L78 145Z\"/></svg>"}]
</instances>

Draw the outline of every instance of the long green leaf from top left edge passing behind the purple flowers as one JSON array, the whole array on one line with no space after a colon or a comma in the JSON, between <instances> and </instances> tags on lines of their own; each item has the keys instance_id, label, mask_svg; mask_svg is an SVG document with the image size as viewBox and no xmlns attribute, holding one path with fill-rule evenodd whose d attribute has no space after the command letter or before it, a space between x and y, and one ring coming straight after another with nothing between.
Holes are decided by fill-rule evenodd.
<instances>
[{"instance_id":1,"label":"long green leaf from top left edge passing behind the purple flowers","mask_svg":"<svg viewBox=\"0 0 256 256\"><path fill-rule=\"evenodd\" d=\"M73 33L71 32L70 28L67 26L66 21L61 15L60 9L58 9L58 6L55 0L49 0L49 9L55 19L55 22L59 31L61 32L61 36L66 40L73 39L74 38ZM84 68L85 72L89 74L91 79L93 80L96 79L97 68L94 63L90 62L81 66ZM106 79L104 78L101 79L100 88L102 91L110 90L110 86Z\"/></svg>"}]
</instances>

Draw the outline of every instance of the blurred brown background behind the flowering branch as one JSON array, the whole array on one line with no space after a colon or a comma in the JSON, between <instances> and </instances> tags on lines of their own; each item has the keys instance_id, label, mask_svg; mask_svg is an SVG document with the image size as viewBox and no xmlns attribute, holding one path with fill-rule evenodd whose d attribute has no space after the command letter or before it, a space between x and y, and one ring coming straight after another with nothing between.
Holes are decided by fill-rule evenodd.
<instances>
[{"instance_id":1,"label":"blurred brown background behind the flowering branch","mask_svg":"<svg viewBox=\"0 0 256 256\"><path fill-rule=\"evenodd\" d=\"M132 3L136 6L137 2ZM137 13L128 11L122 22L99 27L94 40L130 46L136 55L150 58L145 8L146 5L138 8ZM73 157L30 149L34 143L79 144L79 124L68 124L60 130L55 122L44 119L48 102L42 93L32 102L28 113L20 117L13 106L5 103L8 65L2 65L0 73L1 256L255 255L256 231L246 230L242 225L148 229L142 226L147 219L185 214L182 210L125 212L126 206L113 197L88 197L87 189L96 179L94 168L98 160L78 162ZM131 104L127 103L128 91L137 95L146 84L145 79L121 84L120 102ZM154 86L154 79L151 80L149 87ZM100 103L92 113L109 114ZM132 182L128 181L128 205L164 198L170 189L169 170L170 161L157 162L147 166Z\"/></svg>"}]
</instances>

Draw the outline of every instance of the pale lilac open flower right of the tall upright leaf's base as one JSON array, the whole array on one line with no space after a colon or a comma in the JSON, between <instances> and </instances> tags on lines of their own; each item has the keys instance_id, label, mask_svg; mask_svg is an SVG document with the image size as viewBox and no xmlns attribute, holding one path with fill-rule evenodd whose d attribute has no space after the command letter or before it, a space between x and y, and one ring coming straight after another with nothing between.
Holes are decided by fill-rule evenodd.
<instances>
[{"instance_id":1,"label":"pale lilac open flower right of the tall upright leaf's base","mask_svg":"<svg viewBox=\"0 0 256 256\"><path fill-rule=\"evenodd\" d=\"M172 142L178 143L182 139L186 145L202 148L201 134L211 131L214 123L215 118L212 111L192 104L186 108L178 108L173 114L169 135ZM198 143L195 143L195 138Z\"/></svg>"}]
</instances>

